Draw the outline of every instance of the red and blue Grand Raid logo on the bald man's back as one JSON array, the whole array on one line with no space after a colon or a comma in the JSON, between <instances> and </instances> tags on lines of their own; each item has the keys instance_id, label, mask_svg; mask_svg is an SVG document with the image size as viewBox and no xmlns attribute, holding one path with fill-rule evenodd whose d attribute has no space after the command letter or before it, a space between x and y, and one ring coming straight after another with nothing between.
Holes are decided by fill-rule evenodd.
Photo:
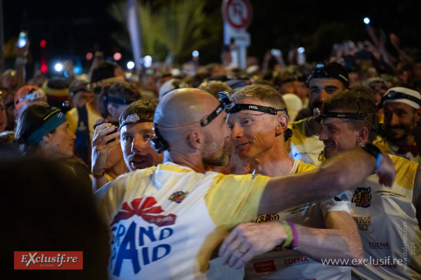
<instances>
[{"instance_id":1,"label":"red and blue Grand Raid logo on the bald man's back","mask_svg":"<svg viewBox=\"0 0 421 280\"><path fill-rule=\"evenodd\" d=\"M173 234L173 229L168 226L175 224L177 216L174 214L159 215L162 212L164 210L160 206L156 206L154 197L136 198L130 203L123 204L110 225L113 233L110 269L113 270L114 264L113 275L120 276L124 260L131 260L125 266L131 263L134 274L137 274L141 270L141 263L148 265L170 254L171 246L169 244L153 246L154 242L167 239ZM128 227L124 223L115 225L133 216L142 217L145 222L164 228L138 227L134 221ZM142 221L139 219L139 222ZM144 223L142 224L144 225ZM147 245L145 245L145 241Z\"/></svg>"}]
</instances>

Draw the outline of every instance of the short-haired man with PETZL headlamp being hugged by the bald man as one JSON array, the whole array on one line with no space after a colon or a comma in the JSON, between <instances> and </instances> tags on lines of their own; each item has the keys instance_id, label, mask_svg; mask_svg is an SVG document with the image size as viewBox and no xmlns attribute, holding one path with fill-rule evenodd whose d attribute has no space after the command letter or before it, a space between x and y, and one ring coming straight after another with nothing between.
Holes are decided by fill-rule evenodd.
<instances>
[{"instance_id":1,"label":"short-haired man with PETZL headlamp being hugged by the bald man","mask_svg":"<svg viewBox=\"0 0 421 280\"><path fill-rule=\"evenodd\" d=\"M231 143L241 159L251 161L255 168L253 174L275 177L317 168L289 157L285 147L289 136L287 108L275 88L247 86L235 92L232 99L236 105L228 112L227 118ZM326 266L320 262L328 258L350 260L363 257L358 229L349 214L347 193L278 213L261 212L255 217L254 225L242 225L247 227L243 228L243 233L259 236L266 242L267 236L276 236L278 231L278 223L269 221L282 220L295 224L300 242L295 246L276 246L253 258L246 264L245 279L351 278L350 267ZM338 251L338 246L348 250ZM301 265L291 265L298 259L305 261Z\"/></svg>"}]
</instances>

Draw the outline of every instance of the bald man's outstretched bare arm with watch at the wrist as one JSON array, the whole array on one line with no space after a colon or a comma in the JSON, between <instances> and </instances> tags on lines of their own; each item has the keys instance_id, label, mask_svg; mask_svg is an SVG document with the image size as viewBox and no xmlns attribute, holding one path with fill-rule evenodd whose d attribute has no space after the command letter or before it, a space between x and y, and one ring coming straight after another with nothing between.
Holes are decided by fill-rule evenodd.
<instances>
[{"instance_id":1,"label":"bald man's outstretched bare arm with watch at the wrist","mask_svg":"<svg viewBox=\"0 0 421 280\"><path fill-rule=\"evenodd\" d=\"M362 148L340 153L313 172L275 177L269 180L259 204L259 213L280 212L303 203L334 196L362 183L376 170L379 183L391 186L395 180L395 165L382 154L376 158Z\"/></svg>"}]
</instances>

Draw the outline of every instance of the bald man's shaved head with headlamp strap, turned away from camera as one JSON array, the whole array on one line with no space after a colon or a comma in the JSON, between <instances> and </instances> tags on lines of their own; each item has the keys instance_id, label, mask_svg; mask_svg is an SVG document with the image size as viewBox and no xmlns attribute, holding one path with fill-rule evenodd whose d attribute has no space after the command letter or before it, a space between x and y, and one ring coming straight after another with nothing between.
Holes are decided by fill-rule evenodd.
<instances>
[{"instance_id":1,"label":"bald man's shaved head with headlamp strap, turned away from camera","mask_svg":"<svg viewBox=\"0 0 421 280\"><path fill-rule=\"evenodd\" d=\"M225 165L229 160L226 150L230 144L226 118L224 106L210 93L197 88L180 88L165 95L156 107L155 133L159 132L158 137L166 142L167 149L192 137L189 139L194 144L178 146L186 149L180 150L183 155L187 156L190 149L200 153L205 165Z\"/></svg>"}]
</instances>

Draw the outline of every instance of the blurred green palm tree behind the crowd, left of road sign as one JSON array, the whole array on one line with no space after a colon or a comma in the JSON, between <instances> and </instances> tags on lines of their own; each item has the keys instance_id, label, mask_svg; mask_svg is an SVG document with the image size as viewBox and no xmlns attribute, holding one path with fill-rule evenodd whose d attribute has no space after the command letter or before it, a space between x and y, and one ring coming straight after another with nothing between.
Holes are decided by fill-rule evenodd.
<instances>
[{"instance_id":1,"label":"blurred green palm tree behind the crowd, left of road sign","mask_svg":"<svg viewBox=\"0 0 421 280\"><path fill-rule=\"evenodd\" d=\"M210 32L210 26L206 24L209 19L203 13L205 3L205 0L165 1L153 12L149 3L142 4L138 0L142 53L163 60L168 53L172 52L174 61L180 63L189 59L194 50L212 43L218 34ZM126 2L113 3L108 12L124 30L113 36L116 43L123 48L130 47L126 23ZM212 36L205 37L205 34L212 34Z\"/></svg>"}]
</instances>

